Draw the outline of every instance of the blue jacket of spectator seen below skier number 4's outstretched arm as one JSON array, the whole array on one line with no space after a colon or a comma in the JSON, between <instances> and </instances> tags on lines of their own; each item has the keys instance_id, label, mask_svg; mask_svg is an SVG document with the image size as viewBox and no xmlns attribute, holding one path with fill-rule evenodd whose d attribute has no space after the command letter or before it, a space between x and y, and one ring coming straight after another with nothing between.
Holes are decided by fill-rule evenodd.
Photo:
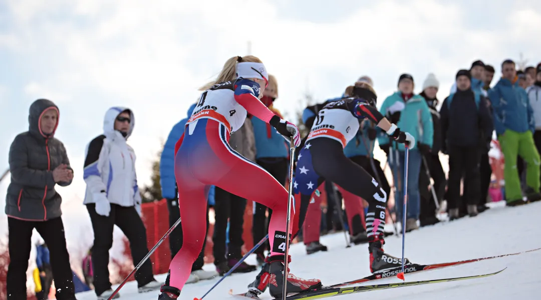
<instances>
[{"instance_id":1,"label":"blue jacket of spectator seen below skier number 4's outstretched arm","mask_svg":"<svg viewBox=\"0 0 541 300\"><path fill-rule=\"evenodd\" d=\"M276 129L256 117L252 117L255 138L255 159L287 158L288 146Z\"/></svg>"}]
</instances>

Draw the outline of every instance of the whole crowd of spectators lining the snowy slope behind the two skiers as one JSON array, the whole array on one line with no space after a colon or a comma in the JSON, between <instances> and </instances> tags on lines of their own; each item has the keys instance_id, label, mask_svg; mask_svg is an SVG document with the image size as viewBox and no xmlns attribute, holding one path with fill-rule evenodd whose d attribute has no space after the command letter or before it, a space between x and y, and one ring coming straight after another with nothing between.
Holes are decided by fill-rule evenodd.
<instances>
[{"instance_id":1,"label":"whole crowd of spectators lining the snowy slope behind the two skiers","mask_svg":"<svg viewBox=\"0 0 541 300\"><path fill-rule=\"evenodd\" d=\"M364 167L387 194L394 193L394 206L387 209L392 221L405 226L406 232L441 222L444 209L449 221L476 217L488 209L487 202L500 200L497 197L500 194L510 207L541 200L541 63L517 70L516 64L507 59L501 63L501 70L495 83L494 67L481 60L473 62L469 69L458 70L455 83L443 101L437 98L440 84L435 74L427 74L418 94L414 92L418 85L411 74L401 74L397 91L380 101L380 112L417 141L408 159L406 212L403 212L402 182L404 145L392 142L368 121L362 122L355 138L346 145L346 156ZM273 76L269 76L268 81L261 101L282 118L273 106L279 97L278 83ZM368 76L360 77L357 82L375 87ZM348 96L347 90L337 96L335 99ZM335 99L306 107L302 113L303 124L299 127L309 131L318 111ZM194 107L195 103L190 106L187 118L173 126L161 154L160 184L162 196L168 203L170 226L180 217L179 201L182 201L178 199L175 183L175 144ZM129 240L134 265L148 253L135 171L136 155L127 144L134 130L134 112L127 107L111 107L105 112L103 134L88 143L84 172L80 175L74 174L64 145L54 136L59 117L60 110L52 101L36 100L30 106L29 131L17 135L10 147L11 183L5 207L11 258L8 299L26 299L26 272L34 228L44 241L38 246L35 274L40 286L39 291L36 289L38 299L47 299L44 291L53 279L57 299L76 299L60 209L62 197L55 190L57 184L70 185L74 176L83 176L87 185L83 204L93 226L94 244L84 258L83 272L85 283L95 290L98 299L107 299L113 292L108 263L115 225ZM376 141L386 154L384 163L374 158ZM286 186L289 146L269 124L248 115L239 131L230 136L229 144ZM501 181L496 180L499 171L491 163L491 148L503 154ZM440 153L448 155L447 176ZM387 167L392 173L390 178L385 175ZM493 190L497 192L492 193ZM349 241L355 244L368 241L364 221L366 203L360 198L344 201L354 205L347 204L342 211L342 199L347 197L357 196L332 182L325 182L314 192L298 237L298 241L306 245L307 254L326 251L319 237L334 231L347 231ZM187 283L223 276L239 262L245 243L242 236L247 201L250 199L242 199L218 187L209 190L207 208L214 209L215 213L212 252L216 268L215 271L202 269L203 244ZM401 224L403 214L405 224ZM271 209L254 203L254 244L266 236L271 216ZM182 222L169 238L171 257L181 246ZM255 250L258 264L265 261L267 250L268 242ZM234 272L256 269L256 265L242 262ZM162 284L154 278L150 260L137 270L135 279L140 292L159 289Z\"/></svg>"}]
</instances>

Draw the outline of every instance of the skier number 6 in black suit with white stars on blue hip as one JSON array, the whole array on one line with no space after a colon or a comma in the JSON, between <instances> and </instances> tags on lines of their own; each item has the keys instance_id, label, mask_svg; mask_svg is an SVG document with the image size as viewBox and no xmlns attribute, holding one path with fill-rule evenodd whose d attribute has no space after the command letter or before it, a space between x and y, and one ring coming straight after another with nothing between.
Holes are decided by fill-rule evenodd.
<instances>
[{"instance_id":1,"label":"skier number 6 in black suit with white stars on blue hip","mask_svg":"<svg viewBox=\"0 0 541 300\"><path fill-rule=\"evenodd\" d=\"M366 214L366 231L368 251L370 252L370 271L385 272L401 267L402 260L385 254L383 251L385 208L387 193L378 185L364 168L360 167L344 155L344 147L355 137L359 130L359 122L371 120L383 129L392 139L415 147L415 139L410 133L400 131L391 124L375 107L377 96L372 86L366 83L355 83L352 97L333 99L319 111L310 133L305 138L297 157L295 194L300 194L300 213L293 223L299 222L300 228L305 218L309 199L324 180L330 180L348 192L368 202ZM299 204L297 204L299 206ZM296 233L295 233L296 234ZM407 259L405 265L411 264ZM255 281L248 285L252 294L261 294L268 283L268 266L263 265Z\"/></svg>"}]
</instances>

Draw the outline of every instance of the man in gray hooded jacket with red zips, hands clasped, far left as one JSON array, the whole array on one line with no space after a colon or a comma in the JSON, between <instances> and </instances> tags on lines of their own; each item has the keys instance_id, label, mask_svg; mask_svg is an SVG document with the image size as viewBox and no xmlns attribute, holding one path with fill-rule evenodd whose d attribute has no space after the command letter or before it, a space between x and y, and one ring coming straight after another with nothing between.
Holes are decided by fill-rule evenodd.
<instances>
[{"instance_id":1,"label":"man in gray hooded jacket with red zips, hands clasped, far left","mask_svg":"<svg viewBox=\"0 0 541 300\"><path fill-rule=\"evenodd\" d=\"M62 197L55 190L57 184L69 186L73 179L64 145L54 138L59 115L52 101L34 101L28 117L29 131L17 135L9 149L11 183L5 205L10 255L8 300L27 298L27 269L34 228L49 245L56 298L75 299L61 218Z\"/></svg>"}]
</instances>

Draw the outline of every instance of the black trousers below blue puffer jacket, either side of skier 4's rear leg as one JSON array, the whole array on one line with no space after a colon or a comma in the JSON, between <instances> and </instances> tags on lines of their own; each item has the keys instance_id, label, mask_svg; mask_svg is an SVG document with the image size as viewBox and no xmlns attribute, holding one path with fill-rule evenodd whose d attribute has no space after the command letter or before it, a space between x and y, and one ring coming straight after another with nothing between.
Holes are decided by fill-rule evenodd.
<instances>
[{"instance_id":1,"label":"black trousers below blue puffer jacket, either side of skier 4's rear leg","mask_svg":"<svg viewBox=\"0 0 541 300\"><path fill-rule=\"evenodd\" d=\"M167 209L169 210L169 227L172 227L173 224L176 222L176 220L179 220L180 218L180 209L179 209L179 199L167 199ZM208 209L209 206L207 205L207 233L208 233ZM171 259L175 257L176 253L179 252L180 248L182 247L182 241L183 241L183 234L182 234L182 221L177 225L173 231L171 231L171 234L169 235L169 248L171 249ZM197 256L197 259L192 264L192 272L196 270L203 269L204 265L204 247L207 244L207 239L203 241L203 248L201 249L201 252L199 253L199 256Z\"/></svg>"}]
</instances>

